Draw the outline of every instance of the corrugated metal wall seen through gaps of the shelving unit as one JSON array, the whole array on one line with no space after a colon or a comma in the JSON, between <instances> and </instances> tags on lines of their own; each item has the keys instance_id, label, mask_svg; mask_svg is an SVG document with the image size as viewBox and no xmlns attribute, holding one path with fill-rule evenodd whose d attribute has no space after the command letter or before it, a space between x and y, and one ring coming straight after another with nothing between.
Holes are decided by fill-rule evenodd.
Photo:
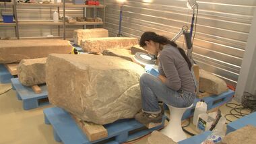
<instances>
[{"instance_id":1,"label":"corrugated metal wall seen through gaps of the shelving unit","mask_svg":"<svg viewBox=\"0 0 256 144\"><path fill-rule=\"evenodd\" d=\"M71 1L67 1L71 2ZM3 9L3 7L0 7ZM8 8L11 8L10 6ZM90 11L92 9L87 9ZM57 11L57 7L33 7L33 6L17 6L18 20L40 20L52 21L53 12ZM82 17L83 8L67 7L65 13L71 17ZM100 14L100 13L98 13ZM60 15L63 15L63 7L60 7ZM92 16L91 16L92 17ZM1 15L0 15L1 19ZM66 37L73 37L73 30L81 29L83 26L66 26ZM52 34L58 36L58 26L19 26L20 37L46 36ZM60 36L63 36L63 26L60 26ZM0 26L0 37L15 37L14 26Z\"/></svg>"}]
</instances>

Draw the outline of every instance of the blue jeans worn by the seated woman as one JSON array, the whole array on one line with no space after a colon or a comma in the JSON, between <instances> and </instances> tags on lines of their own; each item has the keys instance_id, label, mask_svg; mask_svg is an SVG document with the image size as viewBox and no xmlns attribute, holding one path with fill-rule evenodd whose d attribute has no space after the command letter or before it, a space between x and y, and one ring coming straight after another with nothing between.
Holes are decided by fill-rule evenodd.
<instances>
[{"instance_id":1,"label":"blue jeans worn by the seated woman","mask_svg":"<svg viewBox=\"0 0 256 144\"><path fill-rule=\"evenodd\" d=\"M159 114L161 108L158 101L177 108L191 106L195 94L183 91L183 94L167 87L162 81L149 73L144 73L139 78L141 89L142 111L150 114Z\"/></svg>"}]
</instances>

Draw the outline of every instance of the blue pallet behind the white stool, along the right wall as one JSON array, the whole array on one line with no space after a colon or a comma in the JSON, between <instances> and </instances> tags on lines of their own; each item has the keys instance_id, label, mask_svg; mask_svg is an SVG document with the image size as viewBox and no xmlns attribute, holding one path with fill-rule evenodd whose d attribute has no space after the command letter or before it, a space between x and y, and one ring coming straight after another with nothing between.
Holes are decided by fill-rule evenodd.
<instances>
[{"instance_id":1,"label":"blue pallet behind the white stool, along the right wall","mask_svg":"<svg viewBox=\"0 0 256 144\"><path fill-rule=\"evenodd\" d=\"M212 110L213 108L216 108L218 106L222 106L222 104L225 104L227 102L230 102L234 96L234 91L228 90L228 92L224 92L218 96L209 96L206 98L203 98L205 103L207 104L207 110ZM201 99L195 98L194 105L192 108L189 108L186 110L186 112L183 114L183 120L193 116L194 111L195 111L195 105L197 102L199 102Z\"/></svg>"}]
</instances>

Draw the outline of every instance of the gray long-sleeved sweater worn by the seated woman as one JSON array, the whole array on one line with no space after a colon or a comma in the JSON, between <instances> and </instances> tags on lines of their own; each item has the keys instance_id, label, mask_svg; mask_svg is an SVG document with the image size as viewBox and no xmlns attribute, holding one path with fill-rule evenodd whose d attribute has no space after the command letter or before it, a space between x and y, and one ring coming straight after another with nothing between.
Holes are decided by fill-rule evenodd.
<instances>
[{"instance_id":1,"label":"gray long-sleeved sweater worn by the seated woman","mask_svg":"<svg viewBox=\"0 0 256 144\"><path fill-rule=\"evenodd\" d=\"M187 62L178 48L166 44L159 55L159 73L166 77L166 85L175 91L182 88L187 92L195 92L193 76Z\"/></svg>"}]
</instances>

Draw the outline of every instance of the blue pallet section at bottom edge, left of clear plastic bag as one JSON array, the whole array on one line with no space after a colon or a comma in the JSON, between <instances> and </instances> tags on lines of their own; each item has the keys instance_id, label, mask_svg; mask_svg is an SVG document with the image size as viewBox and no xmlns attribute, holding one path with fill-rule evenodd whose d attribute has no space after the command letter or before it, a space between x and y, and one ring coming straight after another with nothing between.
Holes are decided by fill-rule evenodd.
<instances>
[{"instance_id":1,"label":"blue pallet section at bottom edge, left of clear plastic bag","mask_svg":"<svg viewBox=\"0 0 256 144\"><path fill-rule=\"evenodd\" d=\"M179 144L200 144L201 142L205 141L205 139L210 135L212 131L205 131L199 135L195 135L190 137L189 139L185 139L183 141L179 141Z\"/></svg>"}]
</instances>

